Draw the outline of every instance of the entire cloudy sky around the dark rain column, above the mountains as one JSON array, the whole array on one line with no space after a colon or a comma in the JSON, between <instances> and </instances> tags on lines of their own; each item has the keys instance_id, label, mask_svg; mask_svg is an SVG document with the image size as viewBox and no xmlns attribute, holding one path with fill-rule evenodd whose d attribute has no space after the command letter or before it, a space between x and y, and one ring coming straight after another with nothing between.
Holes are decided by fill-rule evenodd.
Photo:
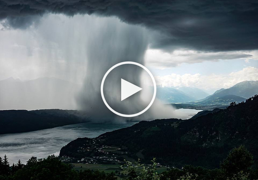
<instances>
[{"instance_id":1,"label":"entire cloudy sky around the dark rain column, above the mountains","mask_svg":"<svg viewBox=\"0 0 258 180\"><path fill-rule=\"evenodd\" d=\"M89 27L105 32L123 24L146 36L144 62L159 85L219 89L258 80L257 7L257 1L0 0L0 80L83 83Z\"/></svg>"}]
</instances>

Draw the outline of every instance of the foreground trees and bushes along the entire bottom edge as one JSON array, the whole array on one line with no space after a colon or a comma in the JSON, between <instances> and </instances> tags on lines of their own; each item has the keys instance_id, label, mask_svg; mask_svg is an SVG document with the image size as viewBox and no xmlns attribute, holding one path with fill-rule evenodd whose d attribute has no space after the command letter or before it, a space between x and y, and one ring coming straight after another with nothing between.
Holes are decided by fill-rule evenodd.
<instances>
[{"instance_id":1,"label":"foreground trees and bushes along the entire bottom edge","mask_svg":"<svg viewBox=\"0 0 258 180\"><path fill-rule=\"evenodd\" d=\"M46 159L32 156L26 164L19 160L10 166L5 155L0 158L0 180L254 180L258 178L258 171L253 164L253 155L244 146L231 150L218 169L185 165L182 169L171 168L159 174L155 171L155 159L150 165L125 161L120 167L121 173L104 173L76 171L54 155Z\"/></svg>"}]
</instances>

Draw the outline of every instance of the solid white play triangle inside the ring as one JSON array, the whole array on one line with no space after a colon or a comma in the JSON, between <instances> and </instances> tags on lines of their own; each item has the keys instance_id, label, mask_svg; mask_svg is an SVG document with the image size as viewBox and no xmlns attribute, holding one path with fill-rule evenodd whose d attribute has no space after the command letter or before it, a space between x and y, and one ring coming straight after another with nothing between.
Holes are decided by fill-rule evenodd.
<instances>
[{"instance_id":1,"label":"solid white play triangle inside the ring","mask_svg":"<svg viewBox=\"0 0 258 180\"><path fill-rule=\"evenodd\" d=\"M142 88L121 79L121 101L141 90Z\"/></svg>"}]
</instances>

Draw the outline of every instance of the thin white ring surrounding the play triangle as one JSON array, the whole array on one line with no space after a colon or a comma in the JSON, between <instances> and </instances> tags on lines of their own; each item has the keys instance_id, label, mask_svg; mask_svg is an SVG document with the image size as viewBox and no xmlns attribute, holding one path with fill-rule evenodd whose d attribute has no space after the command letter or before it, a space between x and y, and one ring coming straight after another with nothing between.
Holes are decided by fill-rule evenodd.
<instances>
[{"instance_id":1,"label":"thin white ring surrounding the play triangle","mask_svg":"<svg viewBox=\"0 0 258 180\"><path fill-rule=\"evenodd\" d=\"M126 114L122 114L122 113L119 113L115 110L113 110L107 103L107 101L105 100L105 97L104 97L104 93L103 93L103 86L104 86L104 81L106 79L106 77L108 76L108 74L110 73L110 71L112 71L114 68L116 68L117 66L120 66L120 65L124 65L124 64L133 64L133 65L138 65L140 66L141 68L143 68L145 71L147 71L147 73L150 75L151 79L152 79L152 82L153 82L153 86L154 86L154 93L153 93L153 97L150 101L150 104L144 109L142 110L141 112L138 112L136 114L131 114L131 115L126 115ZM146 110L148 110L150 108L150 106L153 104L154 100L155 100L155 97L156 97L156 92L157 92L157 87L156 87L156 82L155 82L155 79L153 77L153 75L151 74L150 70L148 70L144 65L141 65L137 62L133 62L133 61L125 61L125 62L120 62L114 66L112 66L107 72L106 74L104 75L103 79L102 79L102 82L101 82L101 87L100 87L100 92L101 92L101 97L105 103L105 105L108 107L109 110L111 110L113 113L115 113L116 115L119 115L119 116L123 116L123 117L135 117L135 116L138 116L138 115L141 115L142 113L144 113Z\"/></svg>"}]
</instances>

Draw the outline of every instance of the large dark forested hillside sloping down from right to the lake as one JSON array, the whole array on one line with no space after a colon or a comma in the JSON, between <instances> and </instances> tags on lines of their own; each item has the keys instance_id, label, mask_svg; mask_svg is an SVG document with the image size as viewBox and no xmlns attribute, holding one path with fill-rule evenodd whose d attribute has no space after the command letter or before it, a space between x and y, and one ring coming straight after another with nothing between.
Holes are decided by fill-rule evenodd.
<instances>
[{"instance_id":1,"label":"large dark forested hillside sloping down from right to the lake","mask_svg":"<svg viewBox=\"0 0 258 180\"><path fill-rule=\"evenodd\" d=\"M78 138L64 146L60 155L73 158L99 155L103 146L118 147L130 158L148 163L154 157L163 165L185 164L218 168L235 146L245 145L258 162L258 96L239 104L231 103L217 112L195 119L141 121L96 138ZM80 151L94 142L90 151ZM91 146L92 147L92 146Z\"/></svg>"}]
</instances>

